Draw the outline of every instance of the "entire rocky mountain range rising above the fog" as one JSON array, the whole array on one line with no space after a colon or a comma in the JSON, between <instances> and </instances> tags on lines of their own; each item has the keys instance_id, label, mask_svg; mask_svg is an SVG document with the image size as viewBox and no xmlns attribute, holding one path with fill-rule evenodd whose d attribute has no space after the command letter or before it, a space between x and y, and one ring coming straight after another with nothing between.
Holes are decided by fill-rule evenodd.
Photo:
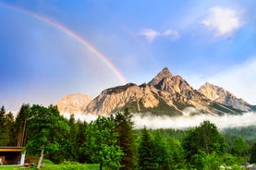
<instances>
[{"instance_id":1,"label":"entire rocky mountain range rising above the fog","mask_svg":"<svg viewBox=\"0 0 256 170\"><path fill-rule=\"evenodd\" d=\"M128 83L109 88L94 99L87 96L84 100L75 96L67 96L56 103L61 113L80 111L85 114L109 115L128 108L132 113L189 116L239 115L256 110L254 105L209 82L195 90L185 79L174 76L167 67L148 83Z\"/></svg>"}]
</instances>

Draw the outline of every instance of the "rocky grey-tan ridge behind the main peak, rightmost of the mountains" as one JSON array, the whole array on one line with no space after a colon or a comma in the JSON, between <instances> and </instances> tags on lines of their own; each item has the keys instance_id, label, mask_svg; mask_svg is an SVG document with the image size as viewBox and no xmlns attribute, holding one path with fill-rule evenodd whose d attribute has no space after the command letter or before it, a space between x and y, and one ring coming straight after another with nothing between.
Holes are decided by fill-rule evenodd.
<instances>
[{"instance_id":1,"label":"rocky grey-tan ridge behind the main peak, rightmost of the mountains","mask_svg":"<svg viewBox=\"0 0 256 170\"><path fill-rule=\"evenodd\" d=\"M223 103L227 106L231 106L242 111L251 111L250 104L243 99L238 99L234 94L229 91L224 90L221 87L215 86L206 82L201 86L199 91L204 94L208 99Z\"/></svg>"}]
</instances>

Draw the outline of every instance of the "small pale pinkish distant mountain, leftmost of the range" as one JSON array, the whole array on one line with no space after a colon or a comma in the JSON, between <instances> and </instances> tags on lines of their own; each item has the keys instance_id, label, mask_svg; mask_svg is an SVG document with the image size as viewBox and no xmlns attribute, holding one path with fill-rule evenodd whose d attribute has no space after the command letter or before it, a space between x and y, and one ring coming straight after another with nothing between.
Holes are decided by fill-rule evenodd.
<instances>
[{"instance_id":1,"label":"small pale pinkish distant mountain, leftmost of the range","mask_svg":"<svg viewBox=\"0 0 256 170\"><path fill-rule=\"evenodd\" d=\"M91 97L85 94L69 94L55 103L61 114L76 114L85 110Z\"/></svg>"}]
</instances>

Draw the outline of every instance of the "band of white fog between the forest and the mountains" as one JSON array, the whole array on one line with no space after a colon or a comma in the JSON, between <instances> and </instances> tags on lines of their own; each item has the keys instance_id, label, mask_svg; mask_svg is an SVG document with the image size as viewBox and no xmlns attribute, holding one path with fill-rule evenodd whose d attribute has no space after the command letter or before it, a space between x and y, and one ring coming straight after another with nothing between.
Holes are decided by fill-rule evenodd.
<instances>
[{"instance_id":1,"label":"band of white fog between the forest and the mountains","mask_svg":"<svg viewBox=\"0 0 256 170\"><path fill-rule=\"evenodd\" d=\"M69 118L69 114L65 114ZM84 115L78 113L75 115L76 119L86 122L95 120L98 115ZM203 120L209 120L213 122L217 128L235 128L235 127L248 127L256 125L256 113L249 112L243 115L184 115L184 116L157 116L157 115L140 115L134 114L132 121L134 122L134 128L190 128L200 126Z\"/></svg>"}]
</instances>

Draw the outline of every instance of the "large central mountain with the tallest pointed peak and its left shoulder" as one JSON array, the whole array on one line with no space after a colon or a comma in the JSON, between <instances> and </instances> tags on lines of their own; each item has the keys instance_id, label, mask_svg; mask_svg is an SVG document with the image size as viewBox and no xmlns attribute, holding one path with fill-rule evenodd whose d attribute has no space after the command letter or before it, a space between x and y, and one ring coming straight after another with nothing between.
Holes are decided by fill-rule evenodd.
<instances>
[{"instance_id":1,"label":"large central mountain with the tallest pointed peak and its left shoulder","mask_svg":"<svg viewBox=\"0 0 256 170\"><path fill-rule=\"evenodd\" d=\"M188 107L195 108L192 114L235 112L194 90L185 79L173 76L166 67L147 84L128 83L104 90L88 104L85 112L108 115L125 107L134 113L156 115L184 115L183 110Z\"/></svg>"}]
</instances>

